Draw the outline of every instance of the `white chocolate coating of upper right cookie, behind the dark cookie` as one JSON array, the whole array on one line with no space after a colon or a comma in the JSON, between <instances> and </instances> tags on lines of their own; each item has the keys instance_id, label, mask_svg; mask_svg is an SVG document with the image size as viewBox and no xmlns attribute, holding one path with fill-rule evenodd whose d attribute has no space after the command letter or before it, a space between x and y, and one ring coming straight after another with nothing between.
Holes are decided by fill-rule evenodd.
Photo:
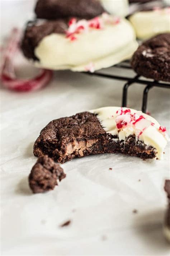
<instances>
[{"instance_id":1,"label":"white chocolate coating of upper right cookie, behind the dark cookie","mask_svg":"<svg viewBox=\"0 0 170 256\"><path fill-rule=\"evenodd\" d=\"M170 32L170 12L168 8L137 12L129 21L132 23L139 39L148 39L154 35Z\"/></svg>"}]
</instances>

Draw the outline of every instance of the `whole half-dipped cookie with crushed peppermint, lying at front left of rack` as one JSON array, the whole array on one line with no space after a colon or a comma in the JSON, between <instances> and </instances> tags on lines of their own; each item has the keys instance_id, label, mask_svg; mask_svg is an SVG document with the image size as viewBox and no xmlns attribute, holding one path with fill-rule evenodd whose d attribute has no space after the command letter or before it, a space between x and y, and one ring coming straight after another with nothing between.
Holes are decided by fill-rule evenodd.
<instances>
[{"instance_id":1,"label":"whole half-dipped cookie with crushed peppermint, lying at front left of rack","mask_svg":"<svg viewBox=\"0 0 170 256\"><path fill-rule=\"evenodd\" d=\"M137 46L131 24L104 13L90 20L30 22L21 48L41 68L94 72L131 58Z\"/></svg>"}]
</instances>

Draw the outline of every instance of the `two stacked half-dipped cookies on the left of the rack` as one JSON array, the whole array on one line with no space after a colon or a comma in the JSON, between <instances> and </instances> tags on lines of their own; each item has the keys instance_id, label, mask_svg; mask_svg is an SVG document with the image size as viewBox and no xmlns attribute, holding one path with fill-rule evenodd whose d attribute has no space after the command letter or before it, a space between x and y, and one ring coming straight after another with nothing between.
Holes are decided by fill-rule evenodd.
<instances>
[{"instance_id":1,"label":"two stacked half-dipped cookies on the left of the rack","mask_svg":"<svg viewBox=\"0 0 170 256\"><path fill-rule=\"evenodd\" d=\"M38 67L93 72L137 49L134 29L122 18L127 0L38 0L35 12L38 20L28 23L22 50Z\"/></svg>"}]
</instances>

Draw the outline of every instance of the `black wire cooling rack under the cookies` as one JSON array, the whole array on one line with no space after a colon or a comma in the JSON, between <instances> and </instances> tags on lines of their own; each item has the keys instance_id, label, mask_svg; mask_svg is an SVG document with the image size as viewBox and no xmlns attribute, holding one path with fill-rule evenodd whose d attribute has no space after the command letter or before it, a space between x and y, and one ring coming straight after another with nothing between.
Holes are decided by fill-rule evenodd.
<instances>
[{"instance_id":1,"label":"black wire cooling rack under the cookies","mask_svg":"<svg viewBox=\"0 0 170 256\"><path fill-rule=\"evenodd\" d=\"M129 69L132 70L130 62L124 61L117 65L114 65L117 69ZM126 83L123 86L123 92L122 92L122 107L127 106L127 96L128 96L128 88L129 86L137 86L138 84L146 85L143 90L143 99L142 99L142 112L146 113L147 110L147 101L148 101L148 92L153 87L161 87L161 88L170 88L170 83L163 83L159 81L152 81L148 79L142 79L140 75L135 75L134 77L128 77L128 76L122 76L122 75L111 75L111 74L104 74L101 71L99 72L83 72L84 74L88 74L91 76L99 76L102 78L109 78L114 80L122 80L126 81Z\"/></svg>"}]
</instances>

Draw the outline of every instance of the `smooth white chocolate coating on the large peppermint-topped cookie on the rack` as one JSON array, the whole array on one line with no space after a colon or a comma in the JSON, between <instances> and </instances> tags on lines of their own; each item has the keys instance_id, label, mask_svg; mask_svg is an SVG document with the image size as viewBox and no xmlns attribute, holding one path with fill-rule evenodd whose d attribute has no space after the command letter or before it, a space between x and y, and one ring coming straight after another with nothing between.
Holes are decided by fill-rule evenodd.
<instances>
[{"instance_id":1,"label":"smooth white chocolate coating on the large peppermint-topped cookie on the rack","mask_svg":"<svg viewBox=\"0 0 170 256\"><path fill-rule=\"evenodd\" d=\"M121 19L113 25L100 18L104 28L77 34L75 41L63 34L44 37L34 50L39 59L35 65L55 70L87 71L91 62L94 70L98 70L130 58L138 44L129 21Z\"/></svg>"}]
</instances>

